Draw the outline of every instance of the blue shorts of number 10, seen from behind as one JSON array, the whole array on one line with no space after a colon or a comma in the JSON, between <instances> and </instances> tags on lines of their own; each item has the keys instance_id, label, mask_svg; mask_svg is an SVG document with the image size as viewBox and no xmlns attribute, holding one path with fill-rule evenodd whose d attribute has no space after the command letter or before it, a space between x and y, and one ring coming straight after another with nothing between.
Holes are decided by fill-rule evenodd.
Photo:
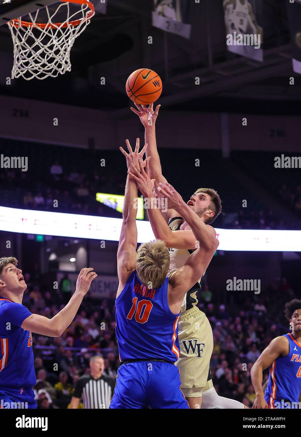
<instances>
[{"instance_id":1,"label":"blue shorts of number 10, seen from behind","mask_svg":"<svg viewBox=\"0 0 301 437\"><path fill-rule=\"evenodd\" d=\"M122 364L110 408L186 408L179 368L161 361Z\"/></svg>"}]
</instances>

